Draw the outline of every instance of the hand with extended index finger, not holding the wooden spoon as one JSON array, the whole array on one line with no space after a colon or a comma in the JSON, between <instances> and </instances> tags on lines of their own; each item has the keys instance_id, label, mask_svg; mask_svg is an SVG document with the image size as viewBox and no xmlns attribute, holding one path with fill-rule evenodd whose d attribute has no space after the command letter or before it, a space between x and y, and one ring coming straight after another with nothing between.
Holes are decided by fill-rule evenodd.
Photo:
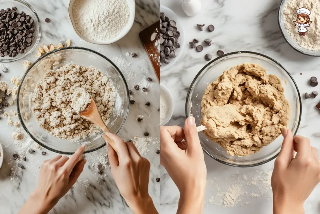
<instances>
[{"instance_id":1,"label":"hand with extended index finger, not holding the wooden spoon","mask_svg":"<svg viewBox=\"0 0 320 214\"><path fill-rule=\"evenodd\" d=\"M79 147L75 154L68 158L58 155L45 160L40 167L39 183L36 190L20 210L19 214L48 213L76 183L82 173L86 159L82 158L85 145Z\"/></svg>"}]
</instances>

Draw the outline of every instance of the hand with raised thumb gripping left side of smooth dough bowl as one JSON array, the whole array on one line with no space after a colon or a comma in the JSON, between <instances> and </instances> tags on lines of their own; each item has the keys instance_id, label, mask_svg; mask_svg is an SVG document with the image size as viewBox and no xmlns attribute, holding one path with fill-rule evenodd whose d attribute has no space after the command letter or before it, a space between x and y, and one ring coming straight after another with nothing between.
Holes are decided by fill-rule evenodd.
<instances>
[{"instance_id":1,"label":"hand with raised thumb gripping left side of smooth dough bowl","mask_svg":"<svg viewBox=\"0 0 320 214\"><path fill-rule=\"evenodd\" d=\"M160 164L180 191L177 213L202 213L207 169L195 118L189 116L184 129L161 126L160 143Z\"/></svg>"}]
</instances>

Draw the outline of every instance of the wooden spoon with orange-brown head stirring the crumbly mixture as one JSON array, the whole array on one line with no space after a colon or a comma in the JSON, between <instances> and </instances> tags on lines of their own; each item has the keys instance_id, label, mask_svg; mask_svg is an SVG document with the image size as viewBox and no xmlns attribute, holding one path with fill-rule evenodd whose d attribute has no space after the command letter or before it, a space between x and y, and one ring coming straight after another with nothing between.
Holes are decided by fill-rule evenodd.
<instances>
[{"instance_id":1,"label":"wooden spoon with orange-brown head stirring the crumbly mixture","mask_svg":"<svg viewBox=\"0 0 320 214\"><path fill-rule=\"evenodd\" d=\"M90 96L91 99L91 103L86 107L86 109L83 112L79 112L79 116L81 116L82 118L89 120L90 122L98 125L100 127L100 129L102 129L102 131L104 133L110 132L110 130L108 129L108 127L106 126L106 124L103 122L97 105L94 102L93 98ZM118 153L118 150L116 148L116 143L115 141L113 141L111 138L109 138L107 135L103 135L102 136L107 143L110 144L110 146Z\"/></svg>"}]
</instances>

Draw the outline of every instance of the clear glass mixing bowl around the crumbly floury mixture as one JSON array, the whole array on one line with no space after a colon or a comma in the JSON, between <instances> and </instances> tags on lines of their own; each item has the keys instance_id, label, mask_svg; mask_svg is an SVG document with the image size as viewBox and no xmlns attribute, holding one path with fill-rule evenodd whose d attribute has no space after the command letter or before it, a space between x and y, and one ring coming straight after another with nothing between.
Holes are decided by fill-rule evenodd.
<instances>
[{"instance_id":1,"label":"clear glass mixing bowl around the crumbly floury mixture","mask_svg":"<svg viewBox=\"0 0 320 214\"><path fill-rule=\"evenodd\" d=\"M73 154L80 145L87 143L85 153L98 150L106 145L102 131L79 141L67 141L53 137L42 129L33 116L30 98L36 84L51 69L58 69L74 63L94 66L113 81L117 90L113 114L107 124L112 133L119 133L129 112L129 89L124 76L107 57L83 47L65 47L54 50L39 58L22 77L17 95L17 108L22 127L30 137L44 148L61 154Z\"/></svg>"}]
</instances>

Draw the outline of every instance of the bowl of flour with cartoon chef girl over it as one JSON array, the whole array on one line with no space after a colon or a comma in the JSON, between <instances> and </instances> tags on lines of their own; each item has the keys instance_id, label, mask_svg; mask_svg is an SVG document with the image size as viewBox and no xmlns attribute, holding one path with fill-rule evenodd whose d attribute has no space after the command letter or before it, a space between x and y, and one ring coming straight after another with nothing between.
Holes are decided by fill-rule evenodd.
<instances>
[{"instance_id":1,"label":"bowl of flour with cartoon chef girl over it","mask_svg":"<svg viewBox=\"0 0 320 214\"><path fill-rule=\"evenodd\" d=\"M278 24L284 39L296 51L320 56L319 14L319 1L282 0L278 9Z\"/></svg>"}]
</instances>

